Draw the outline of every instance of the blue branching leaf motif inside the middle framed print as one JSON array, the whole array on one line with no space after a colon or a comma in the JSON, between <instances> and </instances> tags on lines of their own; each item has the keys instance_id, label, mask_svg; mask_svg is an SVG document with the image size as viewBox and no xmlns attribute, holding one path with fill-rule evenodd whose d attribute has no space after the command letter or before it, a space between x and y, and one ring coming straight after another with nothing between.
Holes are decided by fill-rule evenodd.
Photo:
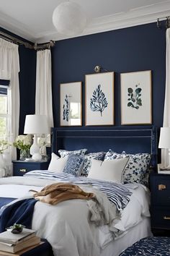
<instances>
[{"instance_id":1,"label":"blue branching leaf motif inside the middle framed print","mask_svg":"<svg viewBox=\"0 0 170 256\"><path fill-rule=\"evenodd\" d=\"M97 89L93 92L92 98L90 99L91 111L100 112L100 115L102 116L102 112L104 111L104 108L107 108L107 106L107 98L102 92L101 85L98 85Z\"/></svg>"}]
</instances>

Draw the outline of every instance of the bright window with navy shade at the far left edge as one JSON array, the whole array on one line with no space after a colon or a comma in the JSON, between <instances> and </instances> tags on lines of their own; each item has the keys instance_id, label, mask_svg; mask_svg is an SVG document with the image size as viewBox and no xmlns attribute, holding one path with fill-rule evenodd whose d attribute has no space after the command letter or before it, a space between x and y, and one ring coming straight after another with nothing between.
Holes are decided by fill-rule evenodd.
<instances>
[{"instance_id":1,"label":"bright window with navy shade at the far left edge","mask_svg":"<svg viewBox=\"0 0 170 256\"><path fill-rule=\"evenodd\" d=\"M8 86L0 80L0 140L9 137Z\"/></svg>"}]
</instances>

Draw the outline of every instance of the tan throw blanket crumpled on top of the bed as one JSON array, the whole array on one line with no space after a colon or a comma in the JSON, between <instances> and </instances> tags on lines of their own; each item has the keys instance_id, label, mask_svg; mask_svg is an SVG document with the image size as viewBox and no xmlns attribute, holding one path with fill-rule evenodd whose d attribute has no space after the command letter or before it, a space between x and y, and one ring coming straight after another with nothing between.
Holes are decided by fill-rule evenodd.
<instances>
[{"instance_id":1,"label":"tan throw blanket crumpled on top of the bed","mask_svg":"<svg viewBox=\"0 0 170 256\"><path fill-rule=\"evenodd\" d=\"M85 199L94 198L93 193L84 192L79 186L69 183L55 183L44 187L40 192L34 195L36 200L47 202L50 205L56 205L69 199Z\"/></svg>"}]
</instances>

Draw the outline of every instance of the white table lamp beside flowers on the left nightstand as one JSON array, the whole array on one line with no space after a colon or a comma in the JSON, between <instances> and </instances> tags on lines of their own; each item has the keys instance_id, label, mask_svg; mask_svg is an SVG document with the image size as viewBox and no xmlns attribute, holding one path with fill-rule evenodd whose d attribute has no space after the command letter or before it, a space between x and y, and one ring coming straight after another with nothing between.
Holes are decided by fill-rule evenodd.
<instances>
[{"instance_id":1,"label":"white table lamp beside flowers on the left nightstand","mask_svg":"<svg viewBox=\"0 0 170 256\"><path fill-rule=\"evenodd\" d=\"M40 161L40 147L37 144L37 135L48 134L48 119L44 115L27 115L24 122L24 134L34 135L30 148L32 159Z\"/></svg>"}]
</instances>

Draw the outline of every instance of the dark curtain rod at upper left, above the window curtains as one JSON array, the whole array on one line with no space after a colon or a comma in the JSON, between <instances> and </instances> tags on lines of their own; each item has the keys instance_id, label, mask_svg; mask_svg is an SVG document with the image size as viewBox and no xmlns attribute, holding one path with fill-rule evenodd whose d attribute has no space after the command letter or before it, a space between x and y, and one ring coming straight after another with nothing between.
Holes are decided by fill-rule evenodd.
<instances>
[{"instance_id":1,"label":"dark curtain rod at upper left, above the window curtains","mask_svg":"<svg viewBox=\"0 0 170 256\"><path fill-rule=\"evenodd\" d=\"M18 38L14 38L12 35L8 35L2 31L0 31L0 38L3 38L5 40L8 40L9 42L20 44L24 46L25 48L30 48L30 49L35 49L35 50L43 50L45 48L50 48L55 45L55 41L50 40L49 43L42 43L42 44L31 44L31 43L26 43Z\"/></svg>"}]
</instances>

